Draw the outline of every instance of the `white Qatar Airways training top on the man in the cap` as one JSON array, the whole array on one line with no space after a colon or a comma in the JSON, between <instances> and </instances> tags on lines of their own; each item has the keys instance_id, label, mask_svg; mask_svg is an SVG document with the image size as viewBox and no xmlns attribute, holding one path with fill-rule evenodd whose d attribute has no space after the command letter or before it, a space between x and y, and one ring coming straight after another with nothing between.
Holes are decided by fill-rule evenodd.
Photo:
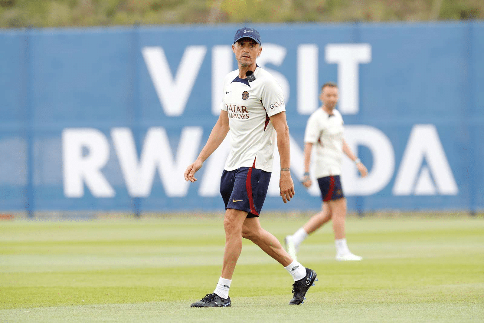
<instances>
[{"instance_id":1,"label":"white Qatar Airways training top on the man in the cap","mask_svg":"<svg viewBox=\"0 0 484 323\"><path fill-rule=\"evenodd\" d=\"M231 138L226 170L254 167L272 171L276 132L269 117L286 111L284 95L266 70L257 66L254 76L249 82L235 70L224 79L221 108L228 113Z\"/></svg>"}]
</instances>

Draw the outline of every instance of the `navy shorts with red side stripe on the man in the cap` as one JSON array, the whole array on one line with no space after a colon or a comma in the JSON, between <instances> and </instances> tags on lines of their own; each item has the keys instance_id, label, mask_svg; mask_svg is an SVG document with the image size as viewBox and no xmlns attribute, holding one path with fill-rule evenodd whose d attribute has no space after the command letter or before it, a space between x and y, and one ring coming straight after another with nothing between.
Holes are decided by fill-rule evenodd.
<instances>
[{"instance_id":1,"label":"navy shorts with red side stripe on the man in the cap","mask_svg":"<svg viewBox=\"0 0 484 323\"><path fill-rule=\"evenodd\" d=\"M225 170L220 178L220 194L225 209L247 211L247 217L258 217L266 199L271 172L252 167Z\"/></svg>"}]
</instances>

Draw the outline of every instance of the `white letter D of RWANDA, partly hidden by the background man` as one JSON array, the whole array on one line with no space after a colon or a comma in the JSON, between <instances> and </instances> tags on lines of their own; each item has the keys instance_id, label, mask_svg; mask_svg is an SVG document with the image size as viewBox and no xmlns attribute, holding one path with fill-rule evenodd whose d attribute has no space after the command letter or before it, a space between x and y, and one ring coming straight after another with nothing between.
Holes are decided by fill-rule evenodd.
<instances>
[{"instance_id":1,"label":"white letter D of RWANDA, partly hidden by the background man","mask_svg":"<svg viewBox=\"0 0 484 323\"><path fill-rule=\"evenodd\" d=\"M395 169L395 154L390 139L372 126L347 125L345 140L352 152L357 152L359 145L367 147L373 159L368 175L361 177L355 164L346 155L343 156L341 180L345 194L365 196L381 191L390 183Z\"/></svg>"}]
</instances>

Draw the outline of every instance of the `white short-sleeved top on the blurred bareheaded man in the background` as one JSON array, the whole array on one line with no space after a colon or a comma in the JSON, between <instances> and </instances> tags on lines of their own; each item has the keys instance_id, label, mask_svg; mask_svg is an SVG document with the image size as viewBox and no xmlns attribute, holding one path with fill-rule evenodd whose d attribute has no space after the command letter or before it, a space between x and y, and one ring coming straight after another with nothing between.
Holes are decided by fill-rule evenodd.
<instances>
[{"instance_id":1,"label":"white short-sleeved top on the blurred bareheaded man in the background","mask_svg":"<svg viewBox=\"0 0 484 323\"><path fill-rule=\"evenodd\" d=\"M333 109L333 114L329 115L320 107L309 117L304 142L314 144L316 178L341 175L343 131L343 118L336 109Z\"/></svg>"}]
</instances>

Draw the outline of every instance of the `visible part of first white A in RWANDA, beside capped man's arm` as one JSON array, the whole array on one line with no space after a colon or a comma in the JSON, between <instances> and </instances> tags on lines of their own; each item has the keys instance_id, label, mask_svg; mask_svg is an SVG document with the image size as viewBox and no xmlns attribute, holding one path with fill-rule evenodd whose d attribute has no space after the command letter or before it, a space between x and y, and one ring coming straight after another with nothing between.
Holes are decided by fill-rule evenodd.
<instances>
[{"instance_id":1,"label":"visible part of first white A in RWANDA, beside capped man's arm","mask_svg":"<svg viewBox=\"0 0 484 323\"><path fill-rule=\"evenodd\" d=\"M220 176L230 153L230 133L203 164L203 176L198 195L203 197L220 196ZM187 166L192 162L188 162Z\"/></svg>"}]
</instances>

